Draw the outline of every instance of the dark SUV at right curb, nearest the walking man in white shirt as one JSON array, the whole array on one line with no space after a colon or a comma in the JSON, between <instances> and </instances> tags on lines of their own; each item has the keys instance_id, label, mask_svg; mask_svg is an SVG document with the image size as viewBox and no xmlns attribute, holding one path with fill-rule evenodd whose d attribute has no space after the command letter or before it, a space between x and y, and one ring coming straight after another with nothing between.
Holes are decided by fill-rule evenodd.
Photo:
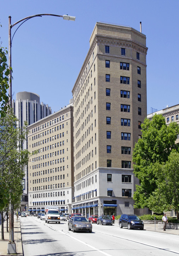
<instances>
[{"instance_id":1,"label":"dark SUV at right curb, nearest the walking man in white shirt","mask_svg":"<svg viewBox=\"0 0 179 256\"><path fill-rule=\"evenodd\" d=\"M137 215L134 214L122 214L119 219L120 228L126 227L128 229L131 228L139 228L141 230L144 229L144 223L140 220Z\"/></svg>"}]
</instances>

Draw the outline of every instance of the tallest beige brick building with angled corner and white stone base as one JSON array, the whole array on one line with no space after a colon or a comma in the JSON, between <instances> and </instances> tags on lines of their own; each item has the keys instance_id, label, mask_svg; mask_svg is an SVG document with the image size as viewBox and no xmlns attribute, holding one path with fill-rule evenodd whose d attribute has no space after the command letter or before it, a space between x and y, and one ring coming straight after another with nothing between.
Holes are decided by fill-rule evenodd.
<instances>
[{"instance_id":1,"label":"tallest beige brick building with angled corner and white stone base","mask_svg":"<svg viewBox=\"0 0 179 256\"><path fill-rule=\"evenodd\" d=\"M107 201L116 205L108 215L113 210L121 214L125 205L133 213L132 150L146 117L145 40L131 27L97 22L73 87L73 208L85 215L105 212ZM126 173L130 182L122 182ZM115 177L110 183L108 174ZM130 196L124 196L125 190Z\"/></svg>"}]
</instances>

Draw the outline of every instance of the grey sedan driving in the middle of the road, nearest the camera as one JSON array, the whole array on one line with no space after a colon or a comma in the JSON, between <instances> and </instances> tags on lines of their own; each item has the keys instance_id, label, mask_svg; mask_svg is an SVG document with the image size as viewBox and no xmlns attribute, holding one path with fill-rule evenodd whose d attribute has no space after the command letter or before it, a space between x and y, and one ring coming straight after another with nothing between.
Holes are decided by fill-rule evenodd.
<instances>
[{"instance_id":1,"label":"grey sedan driving in the middle of the road, nearest the camera","mask_svg":"<svg viewBox=\"0 0 179 256\"><path fill-rule=\"evenodd\" d=\"M75 216L68 220L68 230L92 232L92 224L83 216Z\"/></svg>"}]
</instances>

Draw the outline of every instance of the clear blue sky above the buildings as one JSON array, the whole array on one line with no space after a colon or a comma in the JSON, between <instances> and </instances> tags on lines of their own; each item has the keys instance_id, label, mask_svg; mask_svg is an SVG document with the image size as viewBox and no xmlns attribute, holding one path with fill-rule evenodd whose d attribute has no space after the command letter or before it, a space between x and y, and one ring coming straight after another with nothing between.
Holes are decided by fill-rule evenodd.
<instances>
[{"instance_id":1,"label":"clear blue sky above the buildings","mask_svg":"<svg viewBox=\"0 0 179 256\"><path fill-rule=\"evenodd\" d=\"M25 22L12 41L13 99L19 91L40 95L52 112L69 103L96 22L128 25L146 35L147 106L179 103L179 0L1 0L0 41L8 48L11 23L35 14L76 16L76 21L43 16ZM15 32L17 25L12 28Z\"/></svg>"}]
</instances>

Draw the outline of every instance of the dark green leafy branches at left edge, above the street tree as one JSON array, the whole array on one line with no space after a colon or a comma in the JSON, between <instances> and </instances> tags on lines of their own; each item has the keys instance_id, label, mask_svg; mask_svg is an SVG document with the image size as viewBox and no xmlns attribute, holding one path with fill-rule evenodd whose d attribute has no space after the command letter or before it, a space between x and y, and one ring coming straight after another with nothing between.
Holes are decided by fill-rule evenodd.
<instances>
[{"instance_id":1,"label":"dark green leafy branches at left edge, above the street tree","mask_svg":"<svg viewBox=\"0 0 179 256\"><path fill-rule=\"evenodd\" d=\"M7 50L0 47L0 115L5 117L6 111L9 107L9 97L7 95L8 90L8 75L10 69L7 65Z\"/></svg>"}]
</instances>

